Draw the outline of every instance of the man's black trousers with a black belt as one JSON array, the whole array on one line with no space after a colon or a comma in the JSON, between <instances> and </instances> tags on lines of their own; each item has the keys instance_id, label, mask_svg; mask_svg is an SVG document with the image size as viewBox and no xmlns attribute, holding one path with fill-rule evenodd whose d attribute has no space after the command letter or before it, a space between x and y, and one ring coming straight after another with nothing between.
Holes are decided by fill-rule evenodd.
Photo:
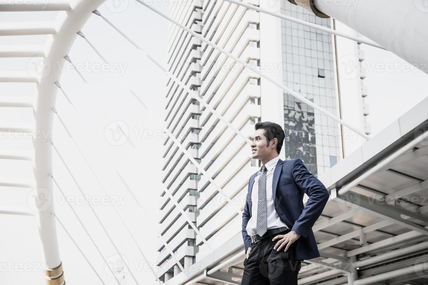
<instances>
[{"instance_id":1,"label":"man's black trousers with a black belt","mask_svg":"<svg viewBox=\"0 0 428 285\"><path fill-rule=\"evenodd\" d=\"M300 260L295 260L295 242L284 252L273 249L278 240L262 239L251 246L250 256L244 259L244 275L241 285L297 285L297 274L302 267Z\"/></svg>"}]
</instances>

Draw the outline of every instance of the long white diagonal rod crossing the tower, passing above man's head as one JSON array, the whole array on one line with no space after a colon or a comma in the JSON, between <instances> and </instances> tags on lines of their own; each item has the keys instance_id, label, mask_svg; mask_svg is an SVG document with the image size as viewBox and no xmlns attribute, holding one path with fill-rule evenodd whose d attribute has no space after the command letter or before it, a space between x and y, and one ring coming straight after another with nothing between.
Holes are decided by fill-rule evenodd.
<instances>
[{"instance_id":1,"label":"long white diagonal rod crossing the tower, passing above man's head","mask_svg":"<svg viewBox=\"0 0 428 285\"><path fill-rule=\"evenodd\" d=\"M237 56L232 55L232 53L229 53L227 50L223 49L222 47L219 47L217 44L214 44L211 41L208 41L202 35L199 35L198 33L192 31L191 29L187 28L186 26L178 23L174 19L170 18L169 16L163 14L162 12L160 12L157 9L153 8L152 6L148 5L145 1L143 1L143 0L136 0L136 1L138 3L143 4L144 6L146 6L147 8L149 8L150 10L152 10L153 12L155 12L158 15L162 16L163 18L171 21L175 25L179 26L181 29L184 29L185 31L187 31L188 33L190 33L191 35L193 35L194 37L199 38L204 43L210 45L211 47L214 47L216 50L220 51L221 53L224 53L226 56L230 57L235 62L240 63L241 65L245 66L249 70L257 73L259 76L261 76L261 77L269 80L270 82L272 82L277 87L281 88L282 90L284 90L285 92L287 92L291 96L297 98L298 100L302 101L303 103L306 103L307 105L309 105L312 108L318 110L319 112L323 113L324 115L327 115L328 117L332 118L333 120L335 120L336 122L340 123L341 125L347 126L349 129L351 129L352 131L354 131L357 134L361 135L363 138L366 138L367 140L370 138L365 132L359 130L358 128L352 126L351 124L349 124L349 123L345 122L344 120L342 120L341 118L337 117L336 115L333 115L332 113L328 112L327 110L321 108L317 104L313 103L312 101L306 99L305 97L303 97L302 95L298 94L297 92L295 92L295 91L291 90L290 88L286 87L285 85L282 84L282 82L276 81L275 79L271 78L266 73L263 73L263 72L259 71L257 68L255 68L255 67L247 64L247 62L244 62L243 60L239 59Z\"/></svg>"}]
</instances>

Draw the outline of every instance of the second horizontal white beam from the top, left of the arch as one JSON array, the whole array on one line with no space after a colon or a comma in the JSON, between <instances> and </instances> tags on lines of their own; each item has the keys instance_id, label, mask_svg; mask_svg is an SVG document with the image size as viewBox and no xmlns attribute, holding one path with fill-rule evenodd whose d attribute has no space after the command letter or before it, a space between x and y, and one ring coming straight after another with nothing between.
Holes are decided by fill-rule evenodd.
<instances>
[{"instance_id":1,"label":"second horizontal white beam from the top, left of the arch","mask_svg":"<svg viewBox=\"0 0 428 285\"><path fill-rule=\"evenodd\" d=\"M54 21L3 22L0 23L2 35L52 35L56 33Z\"/></svg>"}]
</instances>

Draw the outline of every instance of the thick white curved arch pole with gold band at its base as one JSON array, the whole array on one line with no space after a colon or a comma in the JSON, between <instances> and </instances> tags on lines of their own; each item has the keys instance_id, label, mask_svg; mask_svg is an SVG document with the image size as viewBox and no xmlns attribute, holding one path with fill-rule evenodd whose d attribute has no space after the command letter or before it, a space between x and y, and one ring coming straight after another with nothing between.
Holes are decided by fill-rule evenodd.
<instances>
[{"instance_id":1,"label":"thick white curved arch pole with gold band at its base","mask_svg":"<svg viewBox=\"0 0 428 285\"><path fill-rule=\"evenodd\" d=\"M33 129L45 132L46 138L40 135L33 136L33 173L36 183L35 197L38 205L37 220L39 225L39 237L42 243L43 262L48 284L64 284L62 263L59 257L58 240L53 206L53 181L52 181L52 126L55 106L57 82L61 76L59 66L64 62L64 56L70 51L77 36L86 21L91 17L92 11L100 6L104 0L73 0L70 3L57 5L59 2L51 1L48 5L52 9L71 10L59 12L56 19L58 30L53 35L48 35L45 45L45 68L39 78L33 80L36 84L35 101L33 104ZM21 5L22 6L22 5ZM27 5L28 7L29 5ZM1 9L6 9L1 6ZM15 8L19 8L16 7ZM30 9L30 8L28 8ZM10 10L10 9L9 9ZM37 133L37 132L35 132ZM46 201L48 199L48 201ZM48 204L46 204L48 203Z\"/></svg>"}]
</instances>

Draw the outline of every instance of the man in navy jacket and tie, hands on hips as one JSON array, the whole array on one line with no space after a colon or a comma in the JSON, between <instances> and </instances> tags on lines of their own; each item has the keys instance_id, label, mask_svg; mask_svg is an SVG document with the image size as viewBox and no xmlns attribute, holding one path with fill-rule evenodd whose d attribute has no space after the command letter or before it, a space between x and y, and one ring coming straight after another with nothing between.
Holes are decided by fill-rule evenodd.
<instances>
[{"instance_id":1,"label":"man in navy jacket and tie, hands on hips","mask_svg":"<svg viewBox=\"0 0 428 285\"><path fill-rule=\"evenodd\" d=\"M262 167L250 177L242 213L241 285L297 285L301 261L320 256L311 228L329 193L301 159L279 159L284 137L279 124L256 123L251 152Z\"/></svg>"}]
</instances>

